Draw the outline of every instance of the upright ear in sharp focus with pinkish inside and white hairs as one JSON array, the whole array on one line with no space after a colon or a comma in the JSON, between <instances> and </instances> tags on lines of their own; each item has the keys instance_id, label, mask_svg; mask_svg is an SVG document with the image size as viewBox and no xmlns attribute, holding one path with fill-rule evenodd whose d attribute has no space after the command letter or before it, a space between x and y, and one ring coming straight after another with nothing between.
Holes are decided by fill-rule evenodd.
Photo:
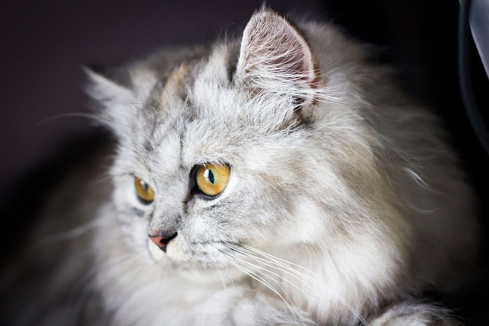
<instances>
[{"instance_id":1,"label":"upright ear in sharp focus with pinkish inside and white hairs","mask_svg":"<svg viewBox=\"0 0 489 326\"><path fill-rule=\"evenodd\" d=\"M244 29L235 82L252 92L311 100L320 80L304 37L277 13L261 9Z\"/></svg>"}]
</instances>

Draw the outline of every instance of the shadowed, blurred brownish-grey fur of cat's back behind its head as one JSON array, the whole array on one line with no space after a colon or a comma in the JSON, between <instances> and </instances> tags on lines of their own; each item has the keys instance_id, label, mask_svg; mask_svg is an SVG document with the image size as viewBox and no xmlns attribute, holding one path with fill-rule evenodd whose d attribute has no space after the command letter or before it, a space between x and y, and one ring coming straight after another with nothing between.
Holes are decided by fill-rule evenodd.
<instances>
[{"instance_id":1,"label":"shadowed, blurred brownish-grey fur of cat's back behind its head","mask_svg":"<svg viewBox=\"0 0 489 326\"><path fill-rule=\"evenodd\" d=\"M442 292L467 286L477 270L479 203L442 120L404 89L395 67L378 62L373 46L330 24L301 27L326 87L341 98L327 109L361 120L387 196L408 222L415 282Z\"/></svg>"}]
</instances>

